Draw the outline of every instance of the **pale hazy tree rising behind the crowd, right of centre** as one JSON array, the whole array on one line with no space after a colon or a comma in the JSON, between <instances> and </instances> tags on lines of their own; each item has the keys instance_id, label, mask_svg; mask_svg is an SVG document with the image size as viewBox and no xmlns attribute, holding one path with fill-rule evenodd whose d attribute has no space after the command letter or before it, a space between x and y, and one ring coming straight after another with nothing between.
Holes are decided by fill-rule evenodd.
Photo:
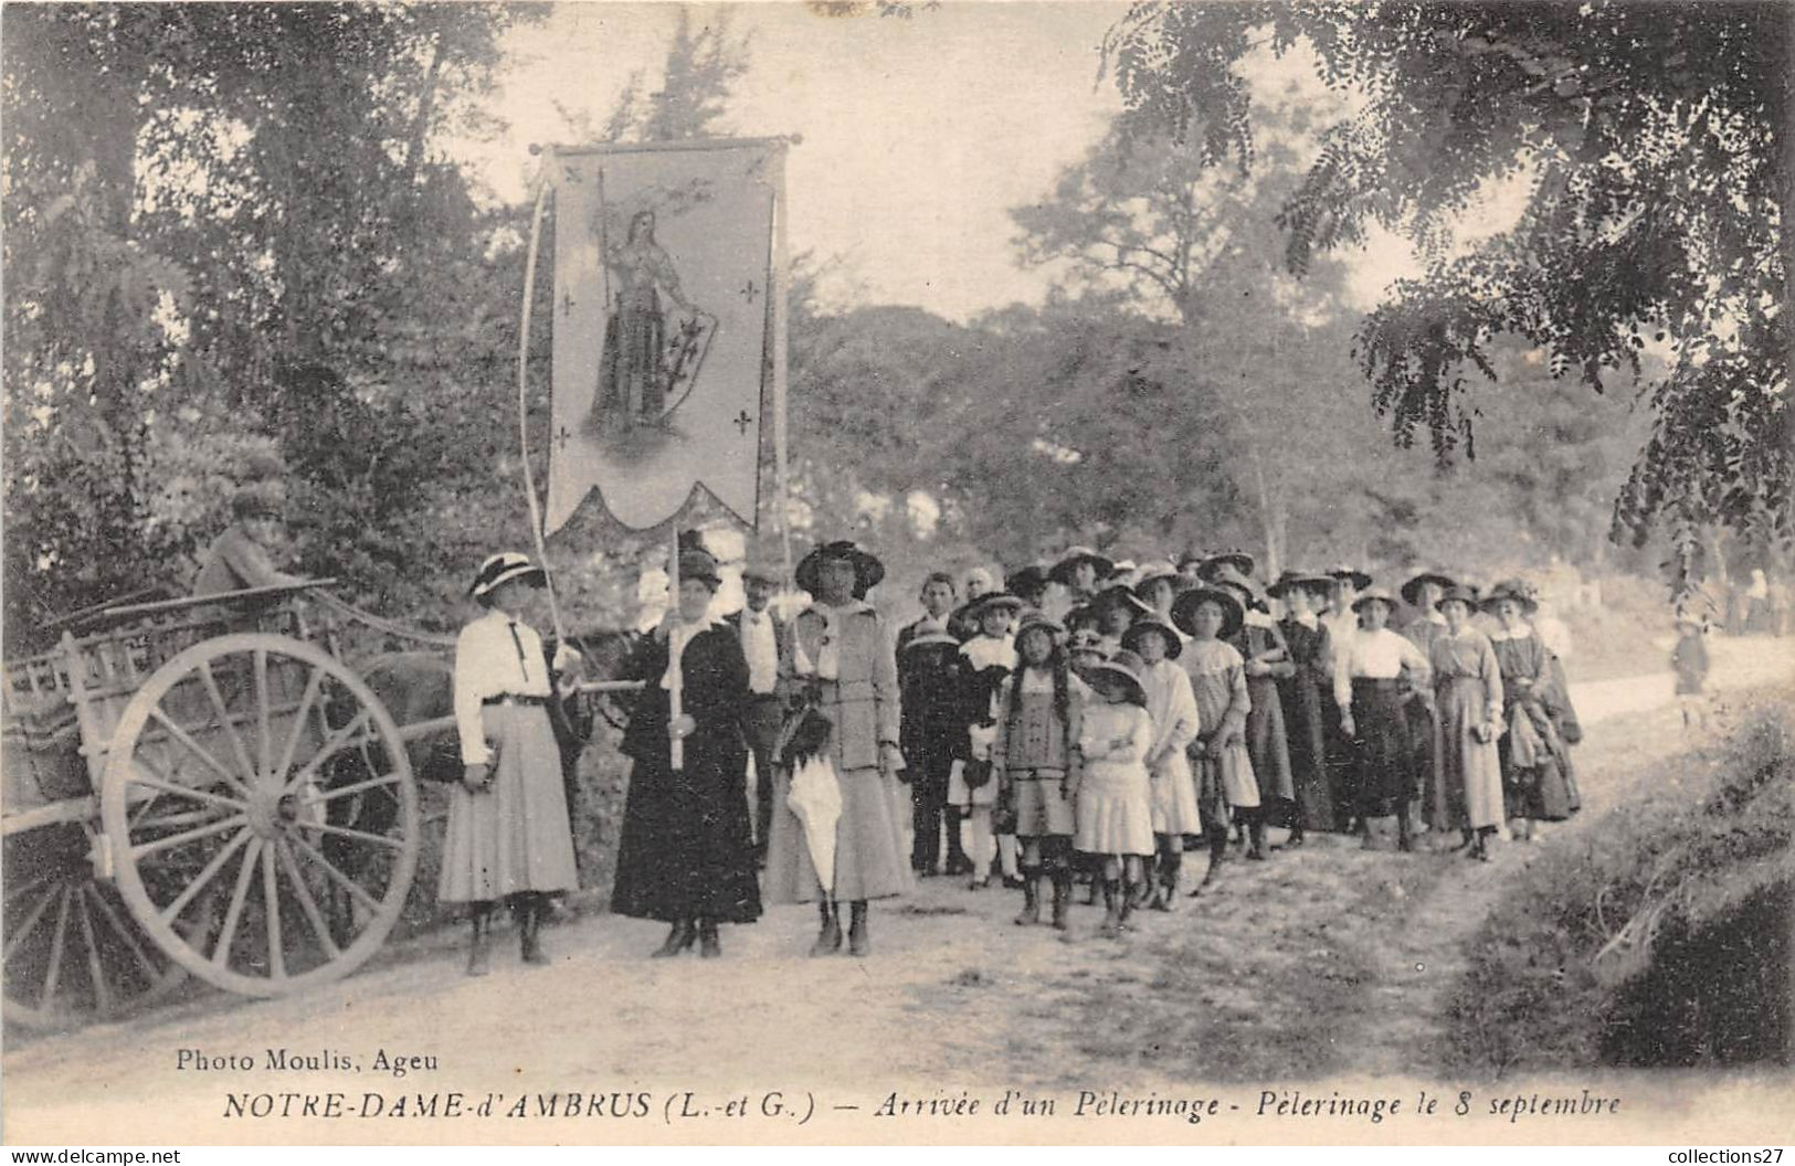
<instances>
[{"instance_id":1,"label":"pale hazy tree rising behind the crowd, right of centre","mask_svg":"<svg viewBox=\"0 0 1795 1166\"><path fill-rule=\"evenodd\" d=\"M1127 310L1178 321L1165 337L1179 353L1174 409L1208 411L1221 427L1210 447L1255 517L1246 542L1276 572L1289 561L1292 508L1341 497L1339 452L1368 427L1341 393L1353 371L1343 269L1323 262L1298 282L1269 260L1309 117L1292 102L1260 120L1265 165L1242 174L1118 118L1048 201L1011 215L1023 262L1066 260L1073 292L1120 296ZM1213 495L1188 502L1217 511ZM1201 535L1213 544L1221 531Z\"/></svg>"}]
</instances>

